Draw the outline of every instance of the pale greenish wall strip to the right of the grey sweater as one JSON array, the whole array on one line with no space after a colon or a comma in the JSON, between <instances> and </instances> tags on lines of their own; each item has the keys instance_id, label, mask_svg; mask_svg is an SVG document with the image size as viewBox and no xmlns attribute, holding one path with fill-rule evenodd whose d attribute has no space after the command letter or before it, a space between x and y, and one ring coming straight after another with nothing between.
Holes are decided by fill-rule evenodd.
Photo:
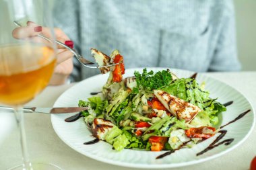
<instances>
[{"instance_id":1,"label":"pale greenish wall strip to the right of the grey sweater","mask_svg":"<svg viewBox=\"0 0 256 170\"><path fill-rule=\"evenodd\" d=\"M256 1L233 1L236 10L238 57L243 71L256 71Z\"/></svg>"}]
</instances>

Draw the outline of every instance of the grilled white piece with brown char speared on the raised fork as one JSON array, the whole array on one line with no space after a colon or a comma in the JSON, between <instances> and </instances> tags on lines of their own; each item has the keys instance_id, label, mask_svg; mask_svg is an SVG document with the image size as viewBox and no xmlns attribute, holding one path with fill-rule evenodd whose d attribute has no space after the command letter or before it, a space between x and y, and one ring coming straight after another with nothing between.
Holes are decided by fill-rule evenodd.
<instances>
[{"instance_id":1,"label":"grilled white piece with brown char speared on the raised fork","mask_svg":"<svg viewBox=\"0 0 256 170\"><path fill-rule=\"evenodd\" d=\"M110 65L111 58L107 56L106 54L91 48L92 56L95 58L95 61L97 62L98 66L104 66L104 65ZM106 74L110 71L110 67L102 67L100 68L100 72L102 74Z\"/></svg>"}]
</instances>

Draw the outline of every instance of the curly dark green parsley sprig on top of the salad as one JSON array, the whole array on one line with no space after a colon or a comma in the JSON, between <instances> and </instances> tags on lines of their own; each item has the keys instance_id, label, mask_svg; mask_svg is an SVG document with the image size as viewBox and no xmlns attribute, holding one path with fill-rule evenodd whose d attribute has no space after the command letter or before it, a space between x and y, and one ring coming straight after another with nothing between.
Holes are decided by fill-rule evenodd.
<instances>
[{"instance_id":1,"label":"curly dark green parsley sprig on top of the salad","mask_svg":"<svg viewBox=\"0 0 256 170\"><path fill-rule=\"evenodd\" d=\"M138 93L139 89L149 91L159 89L172 81L172 75L168 70L158 71L154 74L154 71L148 72L145 68L142 74L135 71L134 75L136 77L137 87L133 88L133 93Z\"/></svg>"}]
</instances>

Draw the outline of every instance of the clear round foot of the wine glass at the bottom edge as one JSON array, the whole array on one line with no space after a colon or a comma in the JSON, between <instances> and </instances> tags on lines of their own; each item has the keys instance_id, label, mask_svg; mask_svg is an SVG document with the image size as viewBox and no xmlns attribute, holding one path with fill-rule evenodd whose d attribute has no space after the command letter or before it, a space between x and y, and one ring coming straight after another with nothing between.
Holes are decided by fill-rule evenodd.
<instances>
[{"instance_id":1,"label":"clear round foot of the wine glass at the bottom edge","mask_svg":"<svg viewBox=\"0 0 256 170\"><path fill-rule=\"evenodd\" d=\"M32 163L32 169L23 169L23 165L17 165L8 170L61 170L61 168L52 163Z\"/></svg>"}]
</instances>

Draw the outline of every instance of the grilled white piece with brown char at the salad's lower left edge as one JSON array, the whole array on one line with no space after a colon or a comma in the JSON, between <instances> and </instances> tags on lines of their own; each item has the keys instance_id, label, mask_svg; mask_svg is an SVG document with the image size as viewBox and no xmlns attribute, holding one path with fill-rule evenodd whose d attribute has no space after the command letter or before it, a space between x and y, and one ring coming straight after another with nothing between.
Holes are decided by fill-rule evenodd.
<instances>
[{"instance_id":1,"label":"grilled white piece with brown char at the salad's lower left edge","mask_svg":"<svg viewBox=\"0 0 256 170\"><path fill-rule=\"evenodd\" d=\"M92 124L92 135L100 140L104 140L107 132L115 126L109 120L95 118Z\"/></svg>"}]
</instances>

